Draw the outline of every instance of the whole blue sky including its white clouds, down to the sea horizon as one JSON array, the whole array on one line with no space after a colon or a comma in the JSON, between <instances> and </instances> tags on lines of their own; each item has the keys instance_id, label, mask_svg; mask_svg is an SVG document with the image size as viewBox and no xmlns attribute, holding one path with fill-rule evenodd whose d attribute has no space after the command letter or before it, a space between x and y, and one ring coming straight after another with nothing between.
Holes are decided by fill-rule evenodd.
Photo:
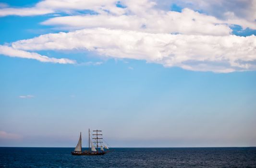
<instances>
[{"instance_id":1,"label":"whole blue sky including its white clouds, down to the sea horizon","mask_svg":"<svg viewBox=\"0 0 256 168\"><path fill-rule=\"evenodd\" d=\"M39 8L35 1L1 1L0 146L72 147L79 132L87 139L88 128L103 130L113 147L256 145L255 18L219 8L233 13L231 21L209 6L185 0L166 2L168 8L165 1L149 7L148 0L109 3L103 10L107 14L98 4L85 4L90 9L63 10L57 5L53 12L27 16L23 12L34 7L44 11L46 4ZM134 4L143 5L141 11L148 15L136 11ZM183 27L191 25L161 29L148 20L156 11L170 12L167 15ZM100 18L90 25L65 21L90 19L94 12ZM214 23L194 24L186 20L188 13L196 21L210 17ZM175 20L176 15L182 19ZM110 17L116 19L114 24L98 23ZM118 17L124 18L121 26ZM136 26L140 19L145 26ZM213 31L193 29L206 25ZM172 38L176 48L169 43ZM194 38L203 41L194 45ZM164 46L155 43L161 40Z\"/></svg>"}]
</instances>

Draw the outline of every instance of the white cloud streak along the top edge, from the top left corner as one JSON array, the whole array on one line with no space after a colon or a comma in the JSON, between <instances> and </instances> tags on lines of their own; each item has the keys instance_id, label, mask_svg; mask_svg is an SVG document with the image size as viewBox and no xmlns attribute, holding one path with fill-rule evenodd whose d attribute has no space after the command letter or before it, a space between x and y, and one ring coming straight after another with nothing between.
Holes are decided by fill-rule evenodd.
<instances>
[{"instance_id":1,"label":"white cloud streak along the top edge, from the top left corner","mask_svg":"<svg viewBox=\"0 0 256 168\"><path fill-rule=\"evenodd\" d=\"M55 12L72 12L77 10L92 10L98 13L109 11L122 14L124 9L116 8L117 0L42 0L31 8L3 8L0 16L19 15L32 16Z\"/></svg>"}]
</instances>

